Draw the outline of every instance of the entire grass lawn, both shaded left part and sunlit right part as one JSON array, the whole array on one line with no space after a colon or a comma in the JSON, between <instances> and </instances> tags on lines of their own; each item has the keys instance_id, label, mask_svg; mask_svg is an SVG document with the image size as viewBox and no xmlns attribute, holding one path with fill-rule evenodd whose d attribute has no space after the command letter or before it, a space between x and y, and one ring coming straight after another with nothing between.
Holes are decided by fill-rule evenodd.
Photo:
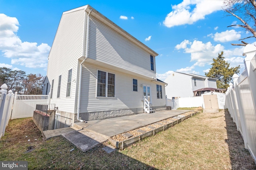
<instances>
[{"instance_id":1,"label":"entire grass lawn, both shaded left part and sunlit right part","mask_svg":"<svg viewBox=\"0 0 256 170\"><path fill-rule=\"evenodd\" d=\"M105 145L82 152L62 136L45 141L32 118L14 119L0 141L0 160L26 160L31 170L256 169L224 110L194 115L123 151L107 154Z\"/></svg>"}]
</instances>

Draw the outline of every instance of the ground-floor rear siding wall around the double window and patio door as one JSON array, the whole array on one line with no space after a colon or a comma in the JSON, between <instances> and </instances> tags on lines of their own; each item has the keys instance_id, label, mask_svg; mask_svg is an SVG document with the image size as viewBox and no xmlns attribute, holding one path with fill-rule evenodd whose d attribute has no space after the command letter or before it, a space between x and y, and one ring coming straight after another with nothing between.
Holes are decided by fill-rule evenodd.
<instances>
[{"instance_id":1,"label":"ground-floor rear siding wall around the double window and patio door","mask_svg":"<svg viewBox=\"0 0 256 170\"><path fill-rule=\"evenodd\" d=\"M96 97L97 92L97 70L115 74L115 98ZM132 90L132 79L138 80L138 92ZM141 84L147 84L151 87L152 104L154 106L165 106L164 84L162 85L163 99L156 98L156 82L142 80L136 76L110 70L108 68L99 68L91 63L85 64L82 69L82 88L80 113L94 111L110 111L120 109L142 108L143 88Z\"/></svg>"}]
</instances>

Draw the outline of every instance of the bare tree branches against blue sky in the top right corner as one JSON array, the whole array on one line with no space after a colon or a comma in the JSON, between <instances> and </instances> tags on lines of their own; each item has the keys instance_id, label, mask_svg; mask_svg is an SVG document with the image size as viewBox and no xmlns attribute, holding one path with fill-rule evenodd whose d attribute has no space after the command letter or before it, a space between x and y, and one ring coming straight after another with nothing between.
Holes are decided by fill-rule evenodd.
<instances>
[{"instance_id":1,"label":"bare tree branches against blue sky in the top right corner","mask_svg":"<svg viewBox=\"0 0 256 170\"><path fill-rule=\"evenodd\" d=\"M252 33L252 36L247 38L256 38L256 1L255 0L224 0L223 10L228 13L228 16L234 16L240 20L241 24L230 25L228 27L238 26L246 29ZM239 40L243 40L239 39ZM245 46L248 43L241 41L242 44L231 44L231 45L242 45Z\"/></svg>"}]
</instances>

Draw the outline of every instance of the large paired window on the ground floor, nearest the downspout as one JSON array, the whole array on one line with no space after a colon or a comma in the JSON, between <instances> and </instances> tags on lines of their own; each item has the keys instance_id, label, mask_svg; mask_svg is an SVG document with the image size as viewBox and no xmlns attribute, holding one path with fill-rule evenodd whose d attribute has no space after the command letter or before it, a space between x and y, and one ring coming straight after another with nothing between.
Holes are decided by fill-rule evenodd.
<instances>
[{"instance_id":1,"label":"large paired window on the ground floor, nearest the downspout","mask_svg":"<svg viewBox=\"0 0 256 170\"><path fill-rule=\"evenodd\" d=\"M115 97L115 74L98 70L97 97Z\"/></svg>"}]
</instances>

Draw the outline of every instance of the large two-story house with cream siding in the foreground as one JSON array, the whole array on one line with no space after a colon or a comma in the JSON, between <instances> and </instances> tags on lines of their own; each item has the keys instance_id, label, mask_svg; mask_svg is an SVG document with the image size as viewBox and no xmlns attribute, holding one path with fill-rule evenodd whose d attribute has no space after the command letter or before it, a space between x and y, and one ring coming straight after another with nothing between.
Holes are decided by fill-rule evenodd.
<instances>
[{"instance_id":1,"label":"large two-story house with cream siding in the foreground","mask_svg":"<svg viewBox=\"0 0 256 170\"><path fill-rule=\"evenodd\" d=\"M62 14L48 57L44 94L60 122L106 119L166 109L158 54L86 5Z\"/></svg>"}]
</instances>

